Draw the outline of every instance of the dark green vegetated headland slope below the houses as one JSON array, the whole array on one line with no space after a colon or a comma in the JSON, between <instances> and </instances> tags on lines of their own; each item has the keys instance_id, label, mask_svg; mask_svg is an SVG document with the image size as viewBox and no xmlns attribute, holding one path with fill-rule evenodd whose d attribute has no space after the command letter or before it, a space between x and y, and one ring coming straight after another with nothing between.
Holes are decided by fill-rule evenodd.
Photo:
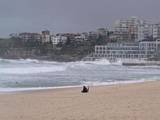
<instances>
[{"instance_id":1,"label":"dark green vegetated headland slope below the houses","mask_svg":"<svg viewBox=\"0 0 160 120\"><path fill-rule=\"evenodd\" d=\"M19 37L0 39L0 56L3 58L34 58L56 61L76 61L94 52L95 45L107 43L106 36L88 37L86 41L67 38L65 43L53 45L35 40L24 42Z\"/></svg>"}]
</instances>

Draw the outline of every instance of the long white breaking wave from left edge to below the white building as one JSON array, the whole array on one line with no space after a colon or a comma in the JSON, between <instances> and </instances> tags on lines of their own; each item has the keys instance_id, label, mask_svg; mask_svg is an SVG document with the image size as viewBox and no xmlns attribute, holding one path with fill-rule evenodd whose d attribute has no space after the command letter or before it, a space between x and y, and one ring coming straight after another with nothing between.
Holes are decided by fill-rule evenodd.
<instances>
[{"instance_id":1,"label":"long white breaking wave from left edge to below the white building","mask_svg":"<svg viewBox=\"0 0 160 120\"><path fill-rule=\"evenodd\" d=\"M101 59L96 61L55 62L36 59L0 59L0 74L36 74L65 71L69 68L88 68L89 66L121 65Z\"/></svg>"}]
</instances>

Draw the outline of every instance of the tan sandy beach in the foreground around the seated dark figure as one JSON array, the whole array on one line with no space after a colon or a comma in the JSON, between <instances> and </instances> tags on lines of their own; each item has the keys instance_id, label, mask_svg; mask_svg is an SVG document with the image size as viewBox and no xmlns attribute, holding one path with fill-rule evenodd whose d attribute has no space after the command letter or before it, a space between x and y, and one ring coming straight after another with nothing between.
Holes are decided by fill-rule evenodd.
<instances>
[{"instance_id":1,"label":"tan sandy beach in the foreground around the seated dark figure","mask_svg":"<svg viewBox=\"0 0 160 120\"><path fill-rule=\"evenodd\" d=\"M0 94L0 120L160 120L160 82Z\"/></svg>"}]
</instances>

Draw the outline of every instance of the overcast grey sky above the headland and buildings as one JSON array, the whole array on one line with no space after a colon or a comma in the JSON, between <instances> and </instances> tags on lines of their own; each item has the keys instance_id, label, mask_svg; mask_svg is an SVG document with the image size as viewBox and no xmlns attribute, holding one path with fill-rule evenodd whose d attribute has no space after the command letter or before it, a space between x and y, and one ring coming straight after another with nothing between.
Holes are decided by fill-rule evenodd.
<instances>
[{"instance_id":1,"label":"overcast grey sky above the headland and buildings","mask_svg":"<svg viewBox=\"0 0 160 120\"><path fill-rule=\"evenodd\" d=\"M0 0L0 36L87 32L130 16L158 22L159 6L160 0Z\"/></svg>"}]
</instances>

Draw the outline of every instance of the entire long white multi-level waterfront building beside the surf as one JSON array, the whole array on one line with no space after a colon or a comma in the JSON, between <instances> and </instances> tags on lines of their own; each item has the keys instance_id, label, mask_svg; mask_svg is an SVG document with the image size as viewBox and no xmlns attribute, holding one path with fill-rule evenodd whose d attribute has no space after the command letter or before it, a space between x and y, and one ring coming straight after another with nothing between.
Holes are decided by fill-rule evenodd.
<instances>
[{"instance_id":1,"label":"entire long white multi-level waterfront building beside the surf","mask_svg":"<svg viewBox=\"0 0 160 120\"><path fill-rule=\"evenodd\" d=\"M95 57L107 59L147 59L158 52L160 41L109 43L95 46Z\"/></svg>"}]
</instances>

